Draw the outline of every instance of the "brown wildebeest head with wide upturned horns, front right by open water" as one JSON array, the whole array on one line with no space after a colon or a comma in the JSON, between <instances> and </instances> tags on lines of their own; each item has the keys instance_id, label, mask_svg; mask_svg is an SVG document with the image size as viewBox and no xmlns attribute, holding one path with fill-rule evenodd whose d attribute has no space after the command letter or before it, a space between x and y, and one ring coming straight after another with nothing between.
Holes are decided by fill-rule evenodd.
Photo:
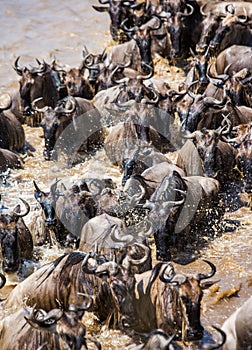
<instances>
[{"instance_id":1,"label":"brown wildebeest head with wide upturned horns, front right by open water","mask_svg":"<svg viewBox=\"0 0 252 350\"><path fill-rule=\"evenodd\" d=\"M158 327L168 334L176 333L178 339L190 341L203 337L204 328L200 323L202 290L211 283L201 281L211 278L216 272L213 263L203 261L211 267L210 273L194 276L177 274L172 264L159 263L152 270L147 285L146 293L152 298L156 296L159 305Z\"/></svg>"}]
</instances>

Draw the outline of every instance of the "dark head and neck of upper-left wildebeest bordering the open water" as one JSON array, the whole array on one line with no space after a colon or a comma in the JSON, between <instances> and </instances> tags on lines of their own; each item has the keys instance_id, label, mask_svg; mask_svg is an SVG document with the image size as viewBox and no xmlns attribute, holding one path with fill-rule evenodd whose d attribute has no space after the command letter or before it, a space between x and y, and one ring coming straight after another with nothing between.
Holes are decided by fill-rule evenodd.
<instances>
[{"instance_id":1,"label":"dark head and neck of upper-left wildebeest bordering the open water","mask_svg":"<svg viewBox=\"0 0 252 350\"><path fill-rule=\"evenodd\" d=\"M32 101L41 98L41 107L55 107L58 100L57 84L52 74L52 69L45 61L38 68L20 67L18 65L20 56L14 63L14 69L21 76L19 81L19 93L21 105L26 115L32 113Z\"/></svg>"}]
</instances>

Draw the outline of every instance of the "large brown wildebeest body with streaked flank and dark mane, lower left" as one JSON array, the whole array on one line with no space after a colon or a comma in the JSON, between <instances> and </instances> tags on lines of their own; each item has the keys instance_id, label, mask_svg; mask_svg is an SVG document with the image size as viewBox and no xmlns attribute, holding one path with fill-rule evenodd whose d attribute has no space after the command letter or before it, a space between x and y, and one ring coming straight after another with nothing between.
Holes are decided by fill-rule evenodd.
<instances>
[{"instance_id":1,"label":"large brown wildebeest body with streaked flank and dark mane, lower left","mask_svg":"<svg viewBox=\"0 0 252 350\"><path fill-rule=\"evenodd\" d=\"M95 264L107 261L102 255L93 256ZM104 321L113 310L111 293L99 277L85 272L89 258L89 254L71 252L43 265L11 291L4 301L4 308L19 309L25 300L27 306L36 304L45 311L59 305L67 311L70 305L82 305L83 296L78 293L84 293L93 296L90 311Z\"/></svg>"}]
</instances>

